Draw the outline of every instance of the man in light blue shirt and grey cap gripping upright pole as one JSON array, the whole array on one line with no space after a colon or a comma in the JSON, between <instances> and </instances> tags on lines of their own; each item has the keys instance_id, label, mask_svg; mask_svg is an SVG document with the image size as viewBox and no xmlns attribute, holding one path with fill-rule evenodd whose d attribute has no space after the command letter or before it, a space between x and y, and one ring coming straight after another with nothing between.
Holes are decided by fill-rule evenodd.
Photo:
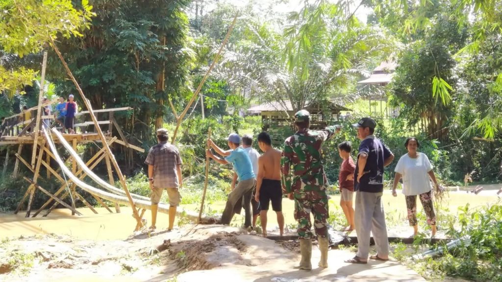
<instances>
[{"instance_id":1,"label":"man in light blue shirt and grey cap gripping upright pole","mask_svg":"<svg viewBox=\"0 0 502 282\"><path fill-rule=\"evenodd\" d=\"M242 204L245 214L244 227L248 228L251 227L251 198L253 190L255 190L256 187L256 177L249 155L240 146L240 136L236 133L232 133L228 135L227 141L230 150L224 151L216 146L213 140L207 140L208 147L214 149L218 155L224 158L214 156L211 149L206 151L206 156L212 158L216 162L222 165L232 164L233 170L237 174L239 180L235 188L228 194L225 210L221 215L221 224L230 224L235 210L240 210L240 204Z\"/></svg>"}]
</instances>

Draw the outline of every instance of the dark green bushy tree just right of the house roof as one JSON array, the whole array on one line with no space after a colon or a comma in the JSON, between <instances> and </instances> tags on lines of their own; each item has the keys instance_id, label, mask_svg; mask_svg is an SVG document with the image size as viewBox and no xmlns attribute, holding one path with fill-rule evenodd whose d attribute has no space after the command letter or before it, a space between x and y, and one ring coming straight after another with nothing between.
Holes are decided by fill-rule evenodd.
<instances>
[{"instance_id":1,"label":"dark green bushy tree just right of the house roof","mask_svg":"<svg viewBox=\"0 0 502 282\"><path fill-rule=\"evenodd\" d=\"M408 125L424 122L428 136L441 139L445 137L445 122L451 114L450 92L457 80L453 54L464 46L467 37L466 30L459 30L458 22L444 15L447 10L444 12L436 13L431 19L434 27L417 36L401 52L392 83L392 101L401 107ZM438 87L445 87L442 95L438 94Z\"/></svg>"}]
</instances>

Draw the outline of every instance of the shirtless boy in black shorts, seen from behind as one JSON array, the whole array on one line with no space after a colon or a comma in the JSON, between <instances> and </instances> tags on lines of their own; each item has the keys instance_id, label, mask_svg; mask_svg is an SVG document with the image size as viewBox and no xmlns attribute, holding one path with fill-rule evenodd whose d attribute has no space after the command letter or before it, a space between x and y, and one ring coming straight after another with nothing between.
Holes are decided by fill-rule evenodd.
<instances>
[{"instance_id":1,"label":"shirtless boy in black shorts, seen from behind","mask_svg":"<svg viewBox=\"0 0 502 282\"><path fill-rule=\"evenodd\" d=\"M264 153L258 158L255 200L260 202L263 236L267 237L267 212L271 201L272 209L277 214L277 222L282 236L284 233L284 215L282 213L281 151L272 148L272 139L267 132L258 135L258 146Z\"/></svg>"}]
</instances>

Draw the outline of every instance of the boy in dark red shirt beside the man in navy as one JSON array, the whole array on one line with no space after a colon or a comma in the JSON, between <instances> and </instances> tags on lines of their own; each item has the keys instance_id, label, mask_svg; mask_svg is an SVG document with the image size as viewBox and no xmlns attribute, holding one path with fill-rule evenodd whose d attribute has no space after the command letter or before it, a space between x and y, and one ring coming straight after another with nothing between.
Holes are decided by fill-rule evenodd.
<instances>
[{"instance_id":1,"label":"boy in dark red shirt beside the man in navy","mask_svg":"<svg viewBox=\"0 0 502 282\"><path fill-rule=\"evenodd\" d=\"M338 175L338 183L340 185L340 206L342 207L345 218L347 218L347 227L343 231L350 232L354 230L354 208L352 207L352 196L354 194L354 171L355 165L350 157L352 146L350 142L342 142L338 144L338 154L343 162L340 166Z\"/></svg>"}]
</instances>

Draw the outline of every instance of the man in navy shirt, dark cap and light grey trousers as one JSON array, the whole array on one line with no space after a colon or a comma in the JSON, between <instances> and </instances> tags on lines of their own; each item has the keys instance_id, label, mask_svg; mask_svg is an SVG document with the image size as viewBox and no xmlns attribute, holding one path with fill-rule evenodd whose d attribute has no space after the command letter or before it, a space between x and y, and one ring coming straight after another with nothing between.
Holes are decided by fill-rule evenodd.
<instances>
[{"instance_id":1,"label":"man in navy shirt, dark cap and light grey trousers","mask_svg":"<svg viewBox=\"0 0 502 282\"><path fill-rule=\"evenodd\" d=\"M376 245L376 255L370 259L389 259L389 238L385 223L382 194L384 192L384 167L394 160L392 152L373 136L376 122L364 117L353 124L361 140L354 171L355 212L354 223L357 232L357 254L346 262L367 263L370 232Z\"/></svg>"}]
</instances>

